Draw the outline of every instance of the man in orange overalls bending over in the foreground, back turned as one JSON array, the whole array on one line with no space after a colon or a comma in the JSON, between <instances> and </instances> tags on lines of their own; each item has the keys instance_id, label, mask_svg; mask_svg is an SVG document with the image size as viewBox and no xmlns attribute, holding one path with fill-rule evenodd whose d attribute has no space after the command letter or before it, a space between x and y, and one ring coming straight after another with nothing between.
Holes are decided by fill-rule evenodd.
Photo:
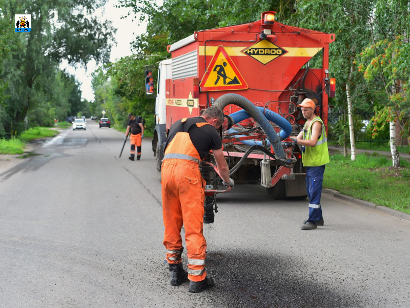
<instances>
[{"instance_id":1,"label":"man in orange overalls bending over in the foreground, back turned","mask_svg":"<svg viewBox=\"0 0 410 308\"><path fill-rule=\"evenodd\" d=\"M229 178L228 164L223 156L222 141L217 129L224 121L216 106L206 109L201 117L175 122L165 148L161 167L162 215L165 226L163 244L171 272L171 285L191 281L189 292L198 293L214 286L207 278L207 241L203 237L203 204L206 182L199 163L212 149L223 185L234 186ZM181 264L183 251L181 228L185 228L188 273Z\"/></svg>"}]
</instances>

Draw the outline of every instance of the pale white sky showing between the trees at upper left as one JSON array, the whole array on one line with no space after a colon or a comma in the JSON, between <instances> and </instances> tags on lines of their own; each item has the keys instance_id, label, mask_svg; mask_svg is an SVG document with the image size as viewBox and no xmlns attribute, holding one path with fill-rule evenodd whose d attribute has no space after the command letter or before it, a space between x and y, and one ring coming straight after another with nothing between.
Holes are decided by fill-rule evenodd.
<instances>
[{"instance_id":1,"label":"pale white sky showing between the trees at upper left","mask_svg":"<svg viewBox=\"0 0 410 308\"><path fill-rule=\"evenodd\" d=\"M137 26L138 21L134 20L134 22L132 22L132 14L121 20L121 16L127 15L129 9L116 8L116 4L118 4L118 0L108 0L104 9L101 8L95 12L95 15L101 15L101 18L112 21L113 27L117 29L117 33L114 35L117 44L113 45L111 48L111 62L115 62L121 56L131 55L131 41L133 41L137 35L144 33L147 29L147 23ZM159 1L157 1L157 4L159 4ZM91 88L91 73L97 68L94 60L87 64L87 71L80 67L76 69L70 67L67 64L67 61L61 63L60 68L66 69L70 74L75 75L75 78L81 83L83 99L87 99L88 101L94 100L94 93Z\"/></svg>"}]
</instances>

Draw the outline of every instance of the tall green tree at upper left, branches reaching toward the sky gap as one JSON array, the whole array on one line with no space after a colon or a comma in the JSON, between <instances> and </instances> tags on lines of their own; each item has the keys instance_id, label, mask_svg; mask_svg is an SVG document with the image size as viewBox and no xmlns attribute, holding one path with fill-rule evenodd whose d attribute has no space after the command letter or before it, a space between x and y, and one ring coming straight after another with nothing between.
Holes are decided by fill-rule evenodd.
<instances>
[{"instance_id":1,"label":"tall green tree at upper left, branches reaching toward the sky gap","mask_svg":"<svg viewBox=\"0 0 410 308\"><path fill-rule=\"evenodd\" d=\"M92 16L105 0L4 0L4 4L6 20L20 12L31 14L33 31L20 36L23 48L11 48L13 61L3 71L10 80L6 102L10 122L6 129L21 131L28 111L35 107L35 92L46 89L41 82L54 78L54 69L63 60L83 66L91 59L107 62L115 30L109 21Z\"/></svg>"}]
</instances>

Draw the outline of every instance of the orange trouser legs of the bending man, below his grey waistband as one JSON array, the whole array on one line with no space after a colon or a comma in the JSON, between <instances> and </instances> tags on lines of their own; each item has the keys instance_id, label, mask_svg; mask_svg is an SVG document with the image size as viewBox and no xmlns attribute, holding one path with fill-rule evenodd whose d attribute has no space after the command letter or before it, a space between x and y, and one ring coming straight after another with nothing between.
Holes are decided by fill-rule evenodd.
<instances>
[{"instance_id":1,"label":"orange trouser legs of the bending man, below his grey waistband","mask_svg":"<svg viewBox=\"0 0 410 308\"><path fill-rule=\"evenodd\" d=\"M188 251L188 279L201 281L207 277L207 241L203 237L206 182L201 177L198 163L182 159L164 160L161 183L165 226L163 245L167 250L167 261L170 264L181 263L183 224Z\"/></svg>"}]
</instances>

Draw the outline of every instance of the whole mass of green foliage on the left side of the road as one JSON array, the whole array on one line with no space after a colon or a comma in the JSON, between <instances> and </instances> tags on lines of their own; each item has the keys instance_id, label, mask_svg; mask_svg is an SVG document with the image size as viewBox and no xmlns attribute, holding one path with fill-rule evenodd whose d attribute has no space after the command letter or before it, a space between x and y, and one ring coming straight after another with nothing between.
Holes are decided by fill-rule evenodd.
<instances>
[{"instance_id":1,"label":"whole mass of green foliage on the left side of the road","mask_svg":"<svg viewBox=\"0 0 410 308\"><path fill-rule=\"evenodd\" d=\"M105 0L0 1L2 136L78 112L83 108L79 84L58 66L63 60L73 66L108 61L115 30L92 15ZM16 12L30 12L33 31L9 34ZM42 113L47 120L39 121Z\"/></svg>"}]
</instances>

